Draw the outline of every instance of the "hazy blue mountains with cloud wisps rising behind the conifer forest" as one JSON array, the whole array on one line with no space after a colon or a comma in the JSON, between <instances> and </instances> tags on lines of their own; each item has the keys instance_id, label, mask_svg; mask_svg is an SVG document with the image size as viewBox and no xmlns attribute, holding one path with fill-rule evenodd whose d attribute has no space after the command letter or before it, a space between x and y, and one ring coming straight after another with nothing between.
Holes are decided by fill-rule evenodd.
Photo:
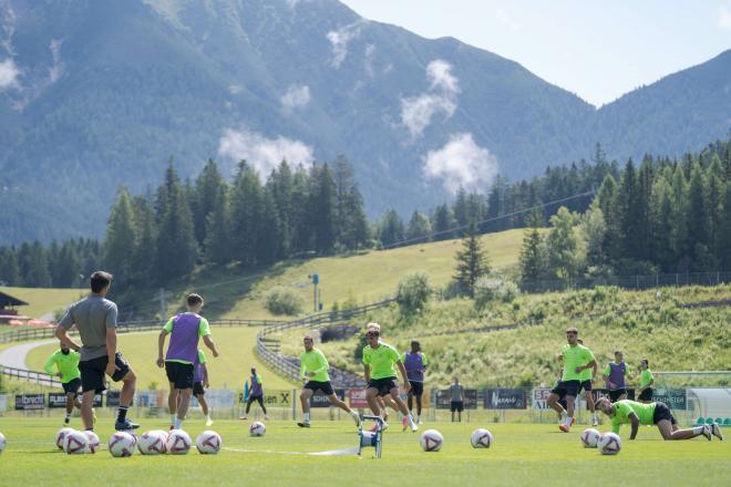
<instances>
[{"instance_id":1,"label":"hazy blue mountains with cloud wisps rising behind the conifer forest","mask_svg":"<svg viewBox=\"0 0 731 487\"><path fill-rule=\"evenodd\" d=\"M729 128L728 58L597 111L513 61L336 0L0 0L0 244L101 236L119 185L150 190L171 158L184 177L208 157L265 176L281 157L343 154L374 217L596 142L618 157L698 147Z\"/></svg>"}]
</instances>

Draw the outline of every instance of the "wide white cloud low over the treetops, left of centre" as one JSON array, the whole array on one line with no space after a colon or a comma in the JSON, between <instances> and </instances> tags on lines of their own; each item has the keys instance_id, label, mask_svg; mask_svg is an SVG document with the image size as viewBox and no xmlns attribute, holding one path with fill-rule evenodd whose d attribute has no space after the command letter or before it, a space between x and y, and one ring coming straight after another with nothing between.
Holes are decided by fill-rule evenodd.
<instances>
[{"instance_id":1,"label":"wide white cloud low over the treetops, left of centre","mask_svg":"<svg viewBox=\"0 0 731 487\"><path fill-rule=\"evenodd\" d=\"M218 154L236 162L246 159L259 172L261 178L266 178L282 159L287 159L292 165L305 166L315 160L312 147L300 141L281 135L267 138L247 128L224 129L223 136L218 139Z\"/></svg>"}]
</instances>

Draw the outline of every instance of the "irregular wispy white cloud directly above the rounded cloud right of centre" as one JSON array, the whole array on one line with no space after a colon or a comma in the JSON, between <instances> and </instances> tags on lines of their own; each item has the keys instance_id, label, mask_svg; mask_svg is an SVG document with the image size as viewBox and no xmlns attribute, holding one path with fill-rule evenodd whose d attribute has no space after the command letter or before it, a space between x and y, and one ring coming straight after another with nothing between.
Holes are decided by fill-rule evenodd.
<instances>
[{"instance_id":1,"label":"irregular wispy white cloud directly above the rounded cloud right of centre","mask_svg":"<svg viewBox=\"0 0 731 487\"><path fill-rule=\"evenodd\" d=\"M439 113L445 118L456 111L459 80L452 74L452 65L434 60L426 66L429 91L419 96L401 99L401 124L409 129L411 138L419 137Z\"/></svg>"}]
</instances>

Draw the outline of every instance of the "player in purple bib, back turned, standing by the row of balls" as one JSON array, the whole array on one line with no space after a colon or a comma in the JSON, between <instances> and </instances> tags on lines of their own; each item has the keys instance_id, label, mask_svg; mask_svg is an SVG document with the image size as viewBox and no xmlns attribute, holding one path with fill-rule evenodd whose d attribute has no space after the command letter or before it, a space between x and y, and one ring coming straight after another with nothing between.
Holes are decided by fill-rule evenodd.
<instances>
[{"instance_id":1,"label":"player in purple bib, back turned, standing by the row of balls","mask_svg":"<svg viewBox=\"0 0 731 487\"><path fill-rule=\"evenodd\" d=\"M210 349L214 356L218 356L216 344L210 339L208 320L198 314L203 308L203 298L198 294L188 294L187 307L187 312L167 320L157 338L157 366L165 367L171 384L167 400L171 410L171 429L181 428L191 405L195 382L193 364L198 358L198 340L203 336L206 346ZM171 343L163 360L165 338L168 334Z\"/></svg>"}]
</instances>

